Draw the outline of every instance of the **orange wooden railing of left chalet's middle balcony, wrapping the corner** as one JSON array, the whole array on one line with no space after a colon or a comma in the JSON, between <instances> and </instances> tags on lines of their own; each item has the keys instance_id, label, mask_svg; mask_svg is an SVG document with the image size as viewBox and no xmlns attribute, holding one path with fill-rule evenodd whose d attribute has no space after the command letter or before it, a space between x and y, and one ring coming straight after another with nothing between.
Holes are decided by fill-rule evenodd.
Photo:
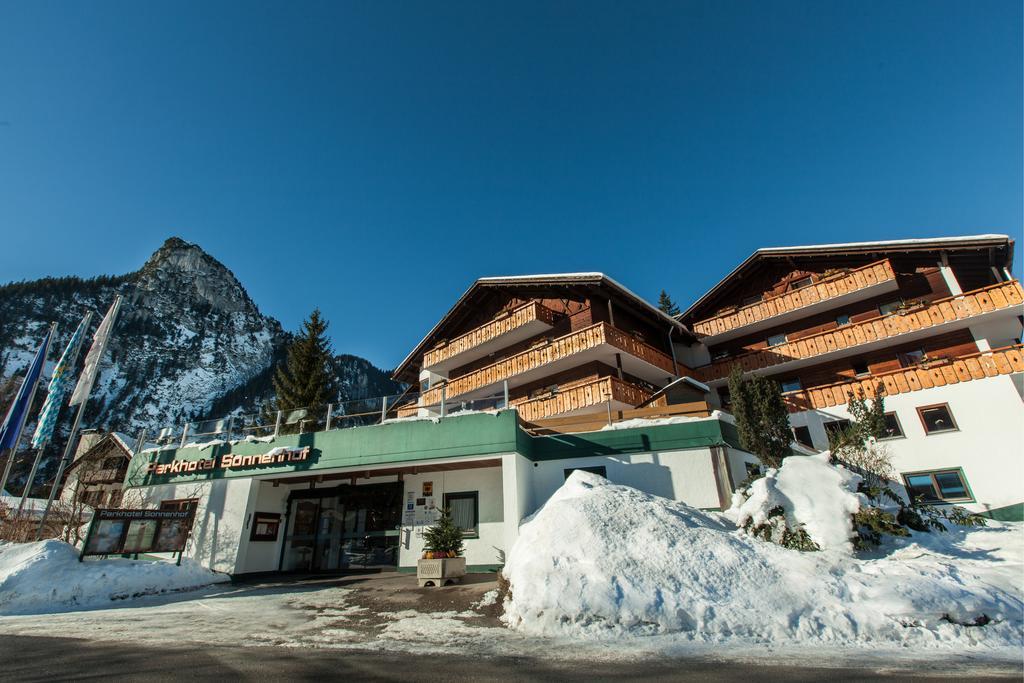
<instances>
[{"instance_id":1,"label":"orange wooden railing of left chalet's middle balcony, wrapping the corner","mask_svg":"<svg viewBox=\"0 0 1024 683\"><path fill-rule=\"evenodd\" d=\"M596 348L602 344L608 344L621 351L645 360L664 370L667 375L675 374L671 357L658 351L653 346L645 344L622 330L611 327L607 323L598 323L553 339L543 346L537 346L510 355L485 368L454 379L445 385L435 386L421 395L420 404L434 405L440 403L442 386L446 387L446 398L454 398L461 394L497 384L515 375L536 370L549 362ZM690 372L689 369L684 368L682 365L679 366L679 371L681 373Z\"/></svg>"}]
</instances>

